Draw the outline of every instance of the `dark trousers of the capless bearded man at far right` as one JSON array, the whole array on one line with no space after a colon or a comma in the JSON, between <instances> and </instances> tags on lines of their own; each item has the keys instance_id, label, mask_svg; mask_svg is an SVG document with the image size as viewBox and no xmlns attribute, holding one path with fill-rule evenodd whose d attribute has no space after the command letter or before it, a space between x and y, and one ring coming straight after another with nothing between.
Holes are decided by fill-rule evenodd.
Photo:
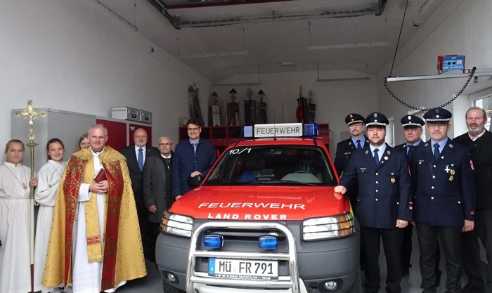
<instances>
[{"instance_id":1,"label":"dark trousers of the capless bearded man at far right","mask_svg":"<svg viewBox=\"0 0 492 293\"><path fill-rule=\"evenodd\" d=\"M481 275L482 262L480 259L480 246L484 245L487 258L486 292L492 292L492 211L475 211L474 230L463 233L462 252L463 268L468 276L470 285L483 287L484 280Z\"/></svg>"}]
</instances>

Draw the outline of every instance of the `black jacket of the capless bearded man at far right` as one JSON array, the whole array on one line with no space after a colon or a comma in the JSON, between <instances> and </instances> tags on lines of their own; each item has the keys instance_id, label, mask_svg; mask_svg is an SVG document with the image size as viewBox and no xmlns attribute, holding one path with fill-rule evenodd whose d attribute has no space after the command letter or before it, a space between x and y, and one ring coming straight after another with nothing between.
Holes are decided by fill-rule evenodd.
<instances>
[{"instance_id":1,"label":"black jacket of the capless bearded man at far right","mask_svg":"<svg viewBox=\"0 0 492 293\"><path fill-rule=\"evenodd\" d=\"M477 185L477 210L492 210L492 133L485 131L476 141L465 133L453 141L467 146L470 151Z\"/></svg>"}]
</instances>

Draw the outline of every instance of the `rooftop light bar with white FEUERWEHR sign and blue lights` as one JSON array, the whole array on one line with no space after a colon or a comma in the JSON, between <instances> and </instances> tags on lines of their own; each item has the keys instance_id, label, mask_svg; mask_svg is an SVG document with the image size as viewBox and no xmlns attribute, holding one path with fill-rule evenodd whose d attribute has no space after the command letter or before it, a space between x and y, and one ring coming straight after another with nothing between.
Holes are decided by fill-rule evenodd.
<instances>
[{"instance_id":1,"label":"rooftop light bar with white FEUERWEHR sign and blue lights","mask_svg":"<svg viewBox=\"0 0 492 293\"><path fill-rule=\"evenodd\" d=\"M316 123L256 124L254 126L243 126L241 132L242 132L242 136L245 138L317 136L318 124Z\"/></svg>"}]
</instances>

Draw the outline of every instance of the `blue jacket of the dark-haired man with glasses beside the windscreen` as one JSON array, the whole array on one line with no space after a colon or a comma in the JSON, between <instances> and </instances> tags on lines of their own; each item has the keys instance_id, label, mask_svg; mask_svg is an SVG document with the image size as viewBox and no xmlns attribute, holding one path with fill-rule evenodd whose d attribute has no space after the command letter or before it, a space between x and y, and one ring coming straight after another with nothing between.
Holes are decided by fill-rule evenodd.
<instances>
[{"instance_id":1,"label":"blue jacket of the dark-haired man with glasses beside the windscreen","mask_svg":"<svg viewBox=\"0 0 492 293\"><path fill-rule=\"evenodd\" d=\"M173 196L184 195L191 190L188 177L194 171L199 171L204 177L215 164L217 154L212 143L200 138L196 153L193 145L186 139L176 145L172 165L172 193Z\"/></svg>"}]
</instances>

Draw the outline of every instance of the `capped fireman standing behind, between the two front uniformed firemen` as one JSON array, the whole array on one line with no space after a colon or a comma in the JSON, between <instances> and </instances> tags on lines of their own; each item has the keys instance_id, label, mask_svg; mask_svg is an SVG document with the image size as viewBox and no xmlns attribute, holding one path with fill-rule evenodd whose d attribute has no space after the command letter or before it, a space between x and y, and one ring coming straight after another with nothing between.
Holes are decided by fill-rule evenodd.
<instances>
[{"instance_id":1,"label":"capped fireman standing behind, between the two front uniformed firemen","mask_svg":"<svg viewBox=\"0 0 492 293\"><path fill-rule=\"evenodd\" d=\"M396 145L395 150L401 150L406 157L408 166L411 164L413 158L413 149L420 145L422 139L422 126L425 125L424 120L415 115L406 115L400 120L401 126L403 126L403 133L405 134L406 143ZM408 275L412 264L410 263L410 256L412 255L412 235L413 225L408 225L403 228L403 245L401 246L401 275Z\"/></svg>"}]
</instances>

